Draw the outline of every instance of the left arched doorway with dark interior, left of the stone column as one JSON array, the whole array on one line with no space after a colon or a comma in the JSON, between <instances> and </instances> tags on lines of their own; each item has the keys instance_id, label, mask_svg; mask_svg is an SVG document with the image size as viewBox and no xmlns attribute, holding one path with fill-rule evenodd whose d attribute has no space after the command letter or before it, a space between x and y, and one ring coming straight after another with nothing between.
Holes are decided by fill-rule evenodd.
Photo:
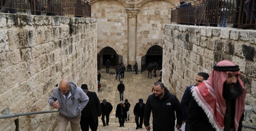
<instances>
[{"instance_id":1,"label":"left arched doorway with dark interior, left of the stone column","mask_svg":"<svg viewBox=\"0 0 256 131\"><path fill-rule=\"evenodd\" d=\"M116 66L116 63L122 62L122 56L118 55L116 50L107 46L100 50L100 53L97 55L98 70L100 70L100 66L105 66L107 60L110 61L111 66Z\"/></svg>"}]
</instances>

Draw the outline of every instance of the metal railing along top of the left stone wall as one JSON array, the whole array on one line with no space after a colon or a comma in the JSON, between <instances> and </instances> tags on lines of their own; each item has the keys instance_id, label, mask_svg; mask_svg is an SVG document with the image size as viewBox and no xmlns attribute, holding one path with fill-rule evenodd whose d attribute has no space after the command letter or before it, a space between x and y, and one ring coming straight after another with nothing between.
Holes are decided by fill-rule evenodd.
<instances>
[{"instance_id":1,"label":"metal railing along top of the left stone wall","mask_svg":"<svg viewBox=\"0 0 256 131\"><path fill-rule=\"evenodd\" d=\"M0 12L31 15L91 17L86 0L1 0Z\"/></svg>"}]
</instances>

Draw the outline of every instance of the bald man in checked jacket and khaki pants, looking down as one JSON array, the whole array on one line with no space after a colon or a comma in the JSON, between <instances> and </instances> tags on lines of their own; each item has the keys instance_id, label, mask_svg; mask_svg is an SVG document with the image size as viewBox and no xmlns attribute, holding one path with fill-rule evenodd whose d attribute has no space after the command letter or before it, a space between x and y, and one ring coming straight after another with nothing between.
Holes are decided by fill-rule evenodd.
<instances>
[{"instance_id":1,"label":"bald man in checked jacket and khaki pants, looking down","mask_svg":"<svg viewBox=\"0 0 256 131\"><path fill-rule=\"evenodd\" d=\"M69 121L72 131L80 131L81 111L88 103L89 98L72 81L61 80L59 85L49 99L50 106L59 109L57 131L65 131Z\"/></svg>"}]
</instances>

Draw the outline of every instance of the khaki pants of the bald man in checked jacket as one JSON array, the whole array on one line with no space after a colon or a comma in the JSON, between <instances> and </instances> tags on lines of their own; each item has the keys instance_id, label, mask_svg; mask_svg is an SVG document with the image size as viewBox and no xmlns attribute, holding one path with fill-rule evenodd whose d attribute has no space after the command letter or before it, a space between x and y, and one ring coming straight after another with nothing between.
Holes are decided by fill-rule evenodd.
<instances>
[{"instance_id":1,"label":"khaki pants of the bald man in checked jacket","mask_svg":"<svg viewBox=\"0 0 256 131\"><path fill-rule=\"evenodd\" d=\"M66 131L68 121L70 121L71 131L80 131L81 114L76 118L67 118L59 113L58 129L57 131Z\"/></svg>"}]
</instances>

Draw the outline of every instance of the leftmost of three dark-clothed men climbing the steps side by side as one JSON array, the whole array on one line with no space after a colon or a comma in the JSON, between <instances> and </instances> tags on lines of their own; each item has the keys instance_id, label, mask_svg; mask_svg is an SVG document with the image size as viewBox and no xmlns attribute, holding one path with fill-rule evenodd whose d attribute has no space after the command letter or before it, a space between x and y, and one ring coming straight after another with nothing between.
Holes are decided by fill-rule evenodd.
<instances>
[{"instance_id":1,"label":"leftmost of three dark-clothed men climbing the steps side by side","mask_svg":"<svg viewBox=\"0 0 256 131\"><path fill-rule=\"evenodd\" d=\"M103 126L107 126L109 125L109 114L111 113L113 106L111 105L111 103L107 102L106 99L103 99L102 103L100 103L101 106L101 111L102 111L102 116L101 116L101 120L103 123ZM105 116L106 116L106 123L105 123Z\"/></svg>"}]
</instances>

